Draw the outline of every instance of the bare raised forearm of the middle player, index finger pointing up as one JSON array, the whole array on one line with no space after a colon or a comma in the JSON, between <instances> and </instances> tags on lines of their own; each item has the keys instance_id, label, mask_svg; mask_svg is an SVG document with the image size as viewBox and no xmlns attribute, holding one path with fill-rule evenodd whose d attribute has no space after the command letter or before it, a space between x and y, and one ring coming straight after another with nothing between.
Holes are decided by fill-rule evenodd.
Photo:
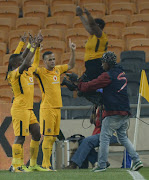
<instances>
[{"instance_id":1,"label":"bare raised forearm of the middle player, index finger pointing up","mask_svg":"<svg viewBox=\"0 0 149 180\"><path fill-rule=\"evenodd\" d=\"M72 69L75 65L76 45L73 42L71 42L71 39L69 39L69 47L70 47L70 51L71 51L71 56L70 56L70 60L68 62L68 70Z\"/></svg>"}]
</instances>

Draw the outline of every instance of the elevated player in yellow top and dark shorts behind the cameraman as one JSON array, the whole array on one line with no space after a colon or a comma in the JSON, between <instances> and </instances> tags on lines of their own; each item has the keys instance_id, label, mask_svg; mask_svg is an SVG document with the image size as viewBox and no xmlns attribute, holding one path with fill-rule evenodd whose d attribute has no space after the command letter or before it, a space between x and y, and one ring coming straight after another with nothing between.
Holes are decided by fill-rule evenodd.
<instances>
[{"instance_id":1,"label":"elevated player in yellow top and dark shorts behind the cameraman","mask_svg":"<svg viewBox=\"0 0 149 180\"><path fill-rule=\"evenodd\" d=\"M105 22L99 18L94 19L86 8L84 8L84 13L87 18L83 16L83 10L77 6L76 14L80 17L83 26L90 34L85 45L84 60L86 67L85 74L89 80L92 80L103 73L101 58L107 50L108 39L103 32Z\"/></svg>"}]
</instances>

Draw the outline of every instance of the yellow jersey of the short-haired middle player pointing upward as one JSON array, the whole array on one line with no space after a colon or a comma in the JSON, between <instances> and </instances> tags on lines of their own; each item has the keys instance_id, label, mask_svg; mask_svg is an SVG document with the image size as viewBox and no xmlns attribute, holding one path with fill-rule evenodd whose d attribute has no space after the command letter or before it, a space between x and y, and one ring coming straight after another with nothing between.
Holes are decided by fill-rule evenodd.
<instances>
[{"instance_id":1,"label":"yellow jersey of the short-haired middle player pointing upward","mask_svg":"<svg viewBox=\"0 0 149 180\"><path fill-rule=\"evenodd\" d=\"M37 68L36 78L42 92L40 108L62 107L60 75L68 70L68 65L55 66L53 71L46 68Z\"/></svg>"}]
</instances>

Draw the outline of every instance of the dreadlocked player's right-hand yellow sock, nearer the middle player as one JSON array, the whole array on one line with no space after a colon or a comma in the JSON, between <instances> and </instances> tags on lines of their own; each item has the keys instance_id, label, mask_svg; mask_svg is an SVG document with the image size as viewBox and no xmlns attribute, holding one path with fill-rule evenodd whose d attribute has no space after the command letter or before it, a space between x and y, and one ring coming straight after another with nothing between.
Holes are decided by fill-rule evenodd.
<instances>
[{"instance_id":1,"label":"dreadlocked player's right-hand yellow sock, nearer the middle player","mask_svg":"<svg viewBox=\"0 0 149 180\"><path fill-rule=\"evenodd\" d=\"M31 140L30 143L30 166L37 164L37 157L39 151L39 141Z\"/></svg>"}]
</instances>

